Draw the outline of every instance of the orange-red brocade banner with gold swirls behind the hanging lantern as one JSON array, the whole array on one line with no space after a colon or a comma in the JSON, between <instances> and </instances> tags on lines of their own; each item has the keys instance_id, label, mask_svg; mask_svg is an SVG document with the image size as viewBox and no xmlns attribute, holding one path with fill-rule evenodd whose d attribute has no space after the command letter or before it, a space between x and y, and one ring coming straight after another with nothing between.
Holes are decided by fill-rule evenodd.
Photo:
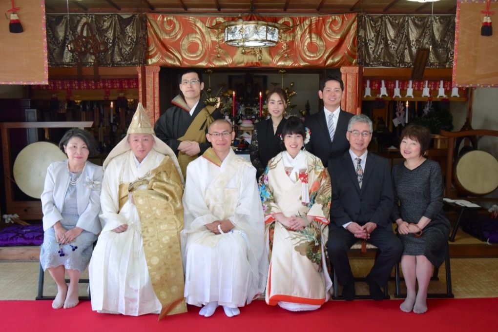
<instances>
[{"instance_id":1,"label":"orange-red brocade banner with gold swirls behind the hanging lantern","mask_svg":"<svg viewBox=\"0 0 498 332\"><path fill-rule=\"evenodd\" d=\"M279 42L274 47L243 49L226 45L223 32L208 28L223 22L224 18L147 13L147 64L232 68L356 65L356 14L258 18L295 27L281 34L286 42Z\"/></svg>"}]
</instances>

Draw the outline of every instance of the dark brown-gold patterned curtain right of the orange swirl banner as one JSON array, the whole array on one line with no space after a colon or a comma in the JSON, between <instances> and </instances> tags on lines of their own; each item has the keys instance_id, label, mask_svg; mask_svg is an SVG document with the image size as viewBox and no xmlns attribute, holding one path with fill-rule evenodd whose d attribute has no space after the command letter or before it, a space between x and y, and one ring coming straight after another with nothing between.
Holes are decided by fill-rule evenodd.
<instances>
[{"instance_id":1,"label":"dark brown-gold patterned curtain right of the orange swirl banner","mask_svg":"<svg viewBox=\"0 0 498 332\"><path fill-rule=\"evenodd\" d=\"M413 67L419 48L432 45L426 67L453 66L455 15L360 15L358 63L365 67Z\"/></svg>"}]
</instances>

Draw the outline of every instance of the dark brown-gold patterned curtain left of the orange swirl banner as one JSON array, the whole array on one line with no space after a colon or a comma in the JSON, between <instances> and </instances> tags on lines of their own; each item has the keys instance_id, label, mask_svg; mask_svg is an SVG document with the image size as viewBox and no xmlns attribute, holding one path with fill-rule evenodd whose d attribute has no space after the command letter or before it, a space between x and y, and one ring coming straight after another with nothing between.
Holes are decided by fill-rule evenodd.
<instances>
[{"instance_id":1,"label":"dark brown-gold patterned curtain left of the orange swirl banner","mask_svg":"<svg viewBox=\"0 0 498 332\"><path fill-rule=\"evenodd\" d=\"M147 25L143 14L47 14L48 64L50 67L75 67L78 56L70 44L83 42L83 67L91 67L97 56L99 66L127 67L145 64ZM85 24L88 23L88 24ZM86 26L85 26L86 25ZM90 27L90 29L88 29ZM78 39L79 38L79 39ZM105 50L104 52L101 52ZM97 53L96 56L93 54Z\"/></svg>"}]
</instances>

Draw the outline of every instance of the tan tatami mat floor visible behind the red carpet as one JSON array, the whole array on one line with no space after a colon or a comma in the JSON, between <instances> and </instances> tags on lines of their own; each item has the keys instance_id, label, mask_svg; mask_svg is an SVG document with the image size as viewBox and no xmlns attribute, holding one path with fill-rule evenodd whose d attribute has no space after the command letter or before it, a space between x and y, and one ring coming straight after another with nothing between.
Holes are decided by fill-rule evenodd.
<instances>
[{"instance_id":1,"label":"tan tatami mat floor visible behind the red carpet","mask_svg":"<svg viewBox=\"0 0 498 332\"><path fill-rule=\"evenodd\" d=\"M365 276L373 264L373 259L352 258L351 265L355 276ZM34 300L38 290L37 261L0 261L0 300ZM445 268L441 266L439 281L431 281L429 292L446 291ZM498 258L452 258L451 275L453 294L456 298L498 297ZM83 278L88 277L88 271ZM80 285L80 296L87 295L88 284ZM368 286L357 282L357 294L368 294ZM394 298L394 281L389 281L389 294ZM402 292L405 292L402 284ZM52 278L45 272L44 295L55 295L56 287Z\"/></svg>"}]
</instances>

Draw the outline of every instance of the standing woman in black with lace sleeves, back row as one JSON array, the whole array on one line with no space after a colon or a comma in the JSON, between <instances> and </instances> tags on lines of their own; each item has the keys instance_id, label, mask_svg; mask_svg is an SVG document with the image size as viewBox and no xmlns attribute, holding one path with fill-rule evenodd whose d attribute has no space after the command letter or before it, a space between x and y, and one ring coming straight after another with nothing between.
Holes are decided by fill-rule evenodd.
<instances>
[{"instance_id":1,"label":"standing woman in black with lace sleeves, back row","mask_svg":"<svg viewBox=\"0 0 498 332\"><path fill-rule=\"evenodd\" d=\"M285 123L283 112L287 107L287 95L279 87L266 94L270 118L256 123L250 142L250 161L256 168L256 179L263 173L268 161L282 152L280 134Z\"/></svg>"}]
</instances>

